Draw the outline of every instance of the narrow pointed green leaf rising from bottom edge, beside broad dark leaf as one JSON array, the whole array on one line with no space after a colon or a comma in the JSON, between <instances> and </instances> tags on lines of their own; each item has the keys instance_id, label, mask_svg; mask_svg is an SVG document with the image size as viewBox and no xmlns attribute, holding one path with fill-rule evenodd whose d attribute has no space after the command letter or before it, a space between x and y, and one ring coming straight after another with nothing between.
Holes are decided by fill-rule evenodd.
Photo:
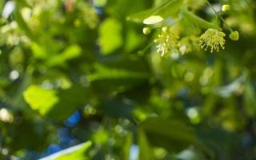
<instances>
[{"instance_id":1,"label":"narrow pointed green leaf rising from bottom edge, beside broad dark leaf","mask_svg":"<svg viewBox=\"0 0 256 160\"><path fill-rule=\"evenodd\" d=\"M143 130L138 131L139 159L153 160L154 154Z\"/></svg>"}]
</instances>

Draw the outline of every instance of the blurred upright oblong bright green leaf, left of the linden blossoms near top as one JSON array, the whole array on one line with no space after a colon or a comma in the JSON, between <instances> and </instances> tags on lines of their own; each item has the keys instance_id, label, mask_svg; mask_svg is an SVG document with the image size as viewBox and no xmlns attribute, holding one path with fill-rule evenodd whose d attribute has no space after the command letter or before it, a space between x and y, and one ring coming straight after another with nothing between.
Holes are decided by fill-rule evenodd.
<instances>
[{"instance_id":1,"label":"blurred upright oblong bright green leaf, left of the linden blossoms near top","mask_svg":"<svg viewBox=\"0 0 256 160\"><path fill-rule=\"evenodd\" d=\"M114 18L107 18L99 26L99 45L102 54L111 54L122 46L122 24Z\"/></svg>"}]
</instances>

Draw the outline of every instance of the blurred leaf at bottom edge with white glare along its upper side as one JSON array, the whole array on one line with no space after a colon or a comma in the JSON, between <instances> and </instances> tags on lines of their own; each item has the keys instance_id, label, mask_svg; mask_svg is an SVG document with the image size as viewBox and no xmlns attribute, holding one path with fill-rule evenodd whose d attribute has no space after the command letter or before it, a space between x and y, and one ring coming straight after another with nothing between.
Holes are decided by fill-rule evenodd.
<instances>
[{"instance_id":1,"label":"blurred leaf at bottom edge with white glare along its upper side","mask_svg":"<svg viewBox=\"0 0 256 160\"><path fill-rule=\"evenodd\" d=\"M90 159L86 155L86 150L90 148L92 142L85 142L77 146L72 146L66 150L62 150L56 154L52 154L46 158L41 158L40 160L87 160Z\"/></svg>"}]
</instances>

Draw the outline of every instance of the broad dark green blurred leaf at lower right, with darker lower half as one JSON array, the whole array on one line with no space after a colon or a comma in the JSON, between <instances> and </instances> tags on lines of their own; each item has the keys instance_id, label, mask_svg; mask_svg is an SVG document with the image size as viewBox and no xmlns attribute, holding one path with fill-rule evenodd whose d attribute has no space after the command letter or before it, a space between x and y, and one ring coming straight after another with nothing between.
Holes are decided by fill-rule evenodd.
<instances>
[{"instance_id":1,"label":"broad dark green blurred leaf at lower right, with darker lower half","mask_svg":"<svg viewBox=\"0 0 256 160\"><path fill-rule=\"evenodd\" d=\"M148 140L154 146L170 151L180 151L197 142L194 130L182 122L162 118L148 118L142 122Z\"/></svg>"}]
</instances>

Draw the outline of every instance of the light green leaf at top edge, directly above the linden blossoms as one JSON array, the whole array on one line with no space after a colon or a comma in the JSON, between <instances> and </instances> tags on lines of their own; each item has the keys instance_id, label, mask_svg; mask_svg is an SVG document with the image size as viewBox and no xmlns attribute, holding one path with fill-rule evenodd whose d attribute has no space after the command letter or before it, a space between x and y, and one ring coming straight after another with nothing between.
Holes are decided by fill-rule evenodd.
<instances>
[{"instance_id":1,"label":"light green leaf at top edge, directly above the linden blossoms","mask_svg":"<svg viewBox=\"0 0 256 160\"><path fill-rule=\"evenodd\" d=\"M150 18L150 16L153 15L158 15L162 18L175 17L182 6L182 3L183 0L168 0L162 6L144 10L138 14L132 14L126 19L132 22L143 22L146 18Z\"/></svg>"}]
</instances>

